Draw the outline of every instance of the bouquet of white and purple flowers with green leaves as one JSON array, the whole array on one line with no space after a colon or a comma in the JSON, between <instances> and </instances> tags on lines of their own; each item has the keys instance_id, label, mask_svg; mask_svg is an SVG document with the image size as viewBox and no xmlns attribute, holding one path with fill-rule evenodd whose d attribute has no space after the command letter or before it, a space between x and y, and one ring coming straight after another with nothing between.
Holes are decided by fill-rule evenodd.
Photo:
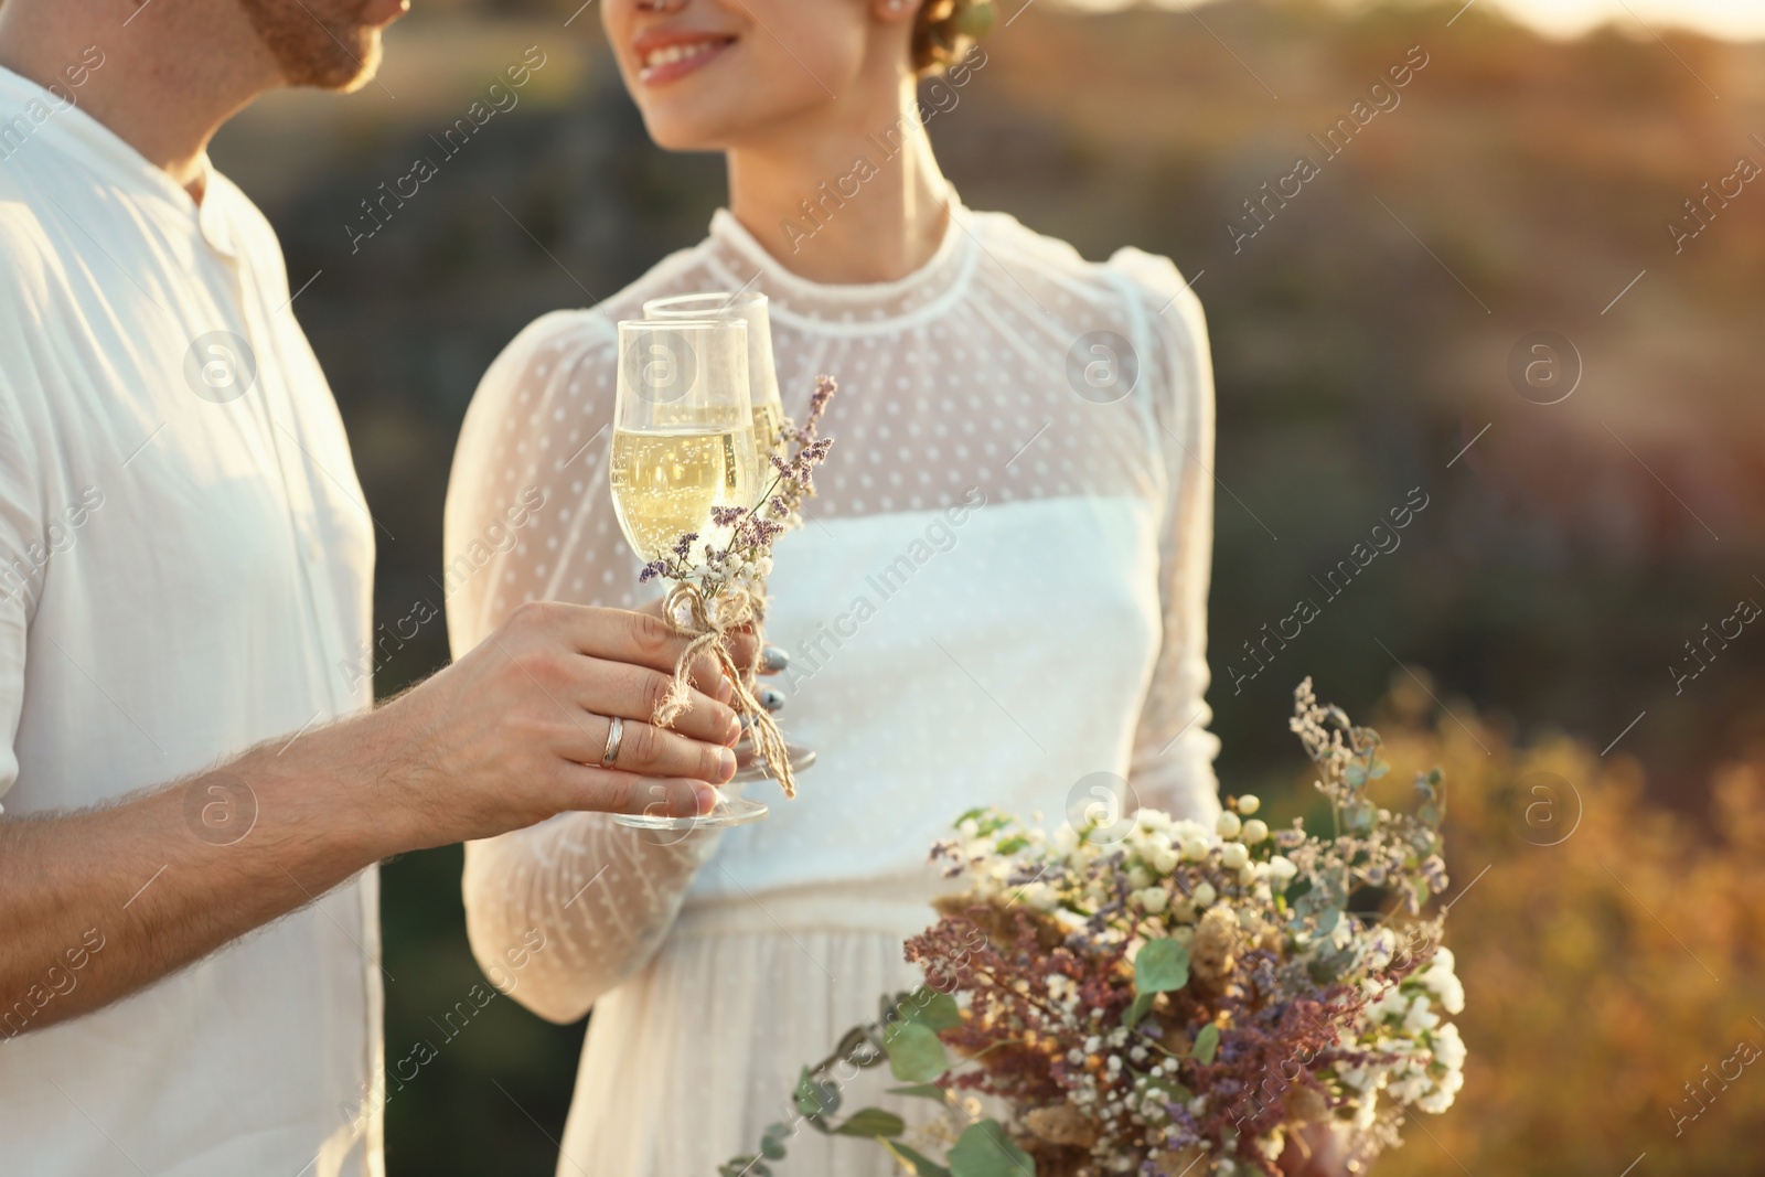
<instances>
[{"instance_id":1,"label":"bouquet of white and purple flowers with green leaves","mask_svg":"<svg viewBox=\"0 0 1765 1177\"><path fill-rule=\"evenodd\" d=\"M800 1119L921 1177L1230 1177L1280 1173L1310 1126L1352 1133L1364 1166L1407 1115L1451 1106L1465 1045L1442 1015L1465 993L1440 918L1421 914L1447 886L1440 775L1393 813L1366 796L1387 771L1375 731L1318 706L1310 679L1290 727L1327 836L1269 829L1251 796L1213 829L1140 810L1048 836L965 813L932 854L969 889L907 941L927 986L805 1068ZM837 1068L884 1061L891 1094L937 1110L911 1131L877 1108L838 1121ZM764 1177L791 1131L724 1172Z\"/></svg>"}]
</instances>

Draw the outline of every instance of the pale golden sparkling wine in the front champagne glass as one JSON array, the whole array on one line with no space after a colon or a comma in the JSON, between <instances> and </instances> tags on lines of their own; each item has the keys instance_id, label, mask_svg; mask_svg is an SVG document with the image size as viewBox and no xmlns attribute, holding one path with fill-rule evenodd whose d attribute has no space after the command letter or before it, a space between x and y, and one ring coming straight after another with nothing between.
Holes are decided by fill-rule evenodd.
<instances>
[{"instance_id":1,"label":"pale golden sparkling wine in the front champagne glass","mask_svg":"<svg viewBox=\"0 0 1765 1177\"><path fill-rule=\"evenodd\" d=\"M699 533L695 556L706 544L722 544L729 529L711 524L711 508L754 501L754 455L752 429L616 431L612 508L632 549L646 561L657 559L687 531Z\"/></svg>"}]
</instances>

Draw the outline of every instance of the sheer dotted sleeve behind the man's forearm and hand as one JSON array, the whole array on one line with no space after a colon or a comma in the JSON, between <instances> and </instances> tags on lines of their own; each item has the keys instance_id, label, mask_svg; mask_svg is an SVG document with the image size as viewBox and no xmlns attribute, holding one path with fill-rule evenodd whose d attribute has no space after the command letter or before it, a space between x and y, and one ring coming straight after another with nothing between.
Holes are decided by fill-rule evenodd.
<instances>
[{"instance_id":1,"label":"sheer dotted sleeve behind the man's forearm and hand","mask_svg":"<svg viewBox=\"0 0 1765 1177\"><path fill-rule=\"evenodd\" d=\"M590 312L545 316L485 374L447 499L455 656L526 600L639 603L605 494L612 385L612 325ZM718 842L674 838L560 813L468 843L466 930L478 963L540 1016L581 1018L650 960Z\"/></svg>"}]
</instances>

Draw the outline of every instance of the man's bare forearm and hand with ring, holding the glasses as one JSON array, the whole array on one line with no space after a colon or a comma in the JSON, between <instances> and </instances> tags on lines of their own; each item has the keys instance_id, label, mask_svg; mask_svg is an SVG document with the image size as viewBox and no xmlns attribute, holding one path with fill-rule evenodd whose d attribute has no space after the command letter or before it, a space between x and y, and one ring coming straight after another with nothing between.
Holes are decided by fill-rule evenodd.
<instances>
[{"instance_id":1,"label":"man's bare forearm and hand with ring, holding the glasses","mask_svg":"<svg viewBox=\"0 0 1765 1177\"><path fill-rule=\"evenodd\" d=\"M674 731L644 722L683 646L644 614L524 605L378 711L113 805L0 819L0 1036L125 997L388 854L565 810L708 812L734 711L694 692ZM710 662L697 681L720 686Z\"/></svg>"}]
</instances>

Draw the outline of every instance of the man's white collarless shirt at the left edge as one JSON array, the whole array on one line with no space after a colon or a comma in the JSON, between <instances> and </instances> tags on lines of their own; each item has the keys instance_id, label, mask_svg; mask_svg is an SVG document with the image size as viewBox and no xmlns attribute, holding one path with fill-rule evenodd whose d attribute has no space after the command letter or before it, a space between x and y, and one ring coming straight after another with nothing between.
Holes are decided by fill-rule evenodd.
<instances>
[{"instance_id":1,"label":"man's white collarless shirt at the left edge","mask_svg":"<svg viewBox=\"0 0 1765 1177\"><path fill-rule=\"evenodd\" d=\"M58 109L60 108L60 109ZM0 69L0 805L101 805L371 702L376 524L268 222ZM251 847L244 789L191 838ZM233 845L224 845L235 842ZM378 1177L378 877L35 1029L161 879L0 993L0 1170ZM5 946L0 944L0 951ZM21 1032L28 1031L28 1032Z\"/></svg>"}]
</instances>

